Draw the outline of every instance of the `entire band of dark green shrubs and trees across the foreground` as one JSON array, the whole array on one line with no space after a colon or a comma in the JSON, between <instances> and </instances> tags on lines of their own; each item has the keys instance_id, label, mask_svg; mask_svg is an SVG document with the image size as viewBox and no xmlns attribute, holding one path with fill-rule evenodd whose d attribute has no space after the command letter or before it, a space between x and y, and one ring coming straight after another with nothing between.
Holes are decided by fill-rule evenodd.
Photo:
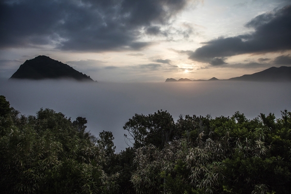
<instances>
[{"instance_id":1,"label":"entire band of dark green shrubs and trees across the foreground","mask_svg":"<svg viewBox=\"0 0 291 194\"><path fill-rule=\"evenodd\" d=\"M291 112L211 118L135 114L112 132L50 109L24 116L0 96L1 193L289 194Z\"/></svg>"}]
</instances>

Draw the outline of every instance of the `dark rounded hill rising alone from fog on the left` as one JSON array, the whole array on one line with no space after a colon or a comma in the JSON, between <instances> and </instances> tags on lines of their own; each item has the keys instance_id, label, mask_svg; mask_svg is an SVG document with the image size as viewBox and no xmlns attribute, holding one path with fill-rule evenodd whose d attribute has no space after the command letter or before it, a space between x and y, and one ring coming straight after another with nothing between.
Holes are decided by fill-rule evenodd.
<instances>
[{"instance_id":1,"label":"dark rounded hill rising alone from fog on the left","mask_svg":"<svg viewBox=\"0 0 291 194\"><path fill-rule=\"evenodd\" d=\"M73 79L77 81L93 81L90 76L44 55L26 60L10 79Z\"/></svg>"}]
</instances>

